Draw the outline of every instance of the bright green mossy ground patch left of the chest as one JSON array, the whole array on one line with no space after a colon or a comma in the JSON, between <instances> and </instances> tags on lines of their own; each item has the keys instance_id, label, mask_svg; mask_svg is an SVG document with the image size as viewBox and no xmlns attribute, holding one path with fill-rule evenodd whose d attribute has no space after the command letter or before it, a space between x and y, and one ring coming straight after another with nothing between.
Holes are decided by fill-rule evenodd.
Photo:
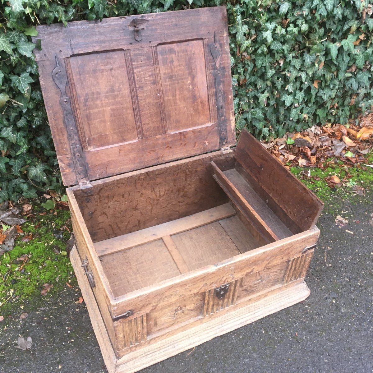
<instances>
[{"instance_id":1,"label":"bright green mossy ground patch left of the chest","mask_svg":"<svg viewBox=\"0 0 373 373\"><path fill-rule=\"evenodd\" d=\"M37 210L37 207L35 208ZM57 210L55 214L39 215L21 226L25 235L17 238L13 250L0 257L0 315L12 313L16 307L24 303L40 303L49 294L61 291L66 282L76 286L73 269L66 253L66 242L69 231L63 231L63 226L71 229L70 212ZM41 212L41 210L40 210ZM29 242L22 238L32 233ZM29 258L22 268L22 260ZM24 270L22 273L22 269ZM43 284L53 285L47 295L41 295Z\"/></svg>"}]
</instances>

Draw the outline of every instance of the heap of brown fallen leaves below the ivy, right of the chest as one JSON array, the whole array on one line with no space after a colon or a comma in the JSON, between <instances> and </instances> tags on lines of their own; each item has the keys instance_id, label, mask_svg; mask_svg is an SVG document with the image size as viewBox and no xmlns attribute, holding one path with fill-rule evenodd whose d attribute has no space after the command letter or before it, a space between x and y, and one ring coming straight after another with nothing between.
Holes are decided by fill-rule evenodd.
<instances>
[{"instance_id":1,"label":"heap of brown fallen leaves below the ivy, right of the chest","mask_svg":"<svg viewBox=\"0 0 373 373\"><path fill-rule=\"evenodd\" d=\"M314 125L307 131L289 133L262 144L286 167L318 167L324 170L330 163L335 164L339 160L347 167L364 168L369 166L365 156L373 146L373 115L361 117L358 124L350 120L346 125ZM330 158L334 160L326 162ZM341 186L343 181L337 176L330 176L326 182L333 188ZM360 194L361 191L357 192Z\"/></svg>"}]
</instances>

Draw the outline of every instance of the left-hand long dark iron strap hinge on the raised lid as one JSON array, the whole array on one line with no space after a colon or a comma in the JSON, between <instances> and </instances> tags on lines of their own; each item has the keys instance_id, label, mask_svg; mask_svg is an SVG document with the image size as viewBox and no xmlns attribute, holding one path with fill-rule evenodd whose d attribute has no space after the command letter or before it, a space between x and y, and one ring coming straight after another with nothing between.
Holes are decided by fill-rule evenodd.
<instances>
[{"instance_id":1,"label":"left-hand long dark iron strap hinge on the raised lid","mask_svg":"<svg viewBox=\"0 0 373 373\"><path fill-rule=\"evenodd\" d=\"M52 78L62 94L62 97L60 98L60 104L63 111L63 118L65 119L66 130L68 132L68 138L70 142L71 154L73 156L72 161L75 167L76 178L78 180L78 183L84 183L88 180L88 173L85 164L82 145L79 140L74 115L71 109L70 98L66 95L66 84L68 82L68 75L66 73L66 70L62 66L60 66L57 55L56 64L57 66L52 71Z\"/></svg>"}]
</instances>

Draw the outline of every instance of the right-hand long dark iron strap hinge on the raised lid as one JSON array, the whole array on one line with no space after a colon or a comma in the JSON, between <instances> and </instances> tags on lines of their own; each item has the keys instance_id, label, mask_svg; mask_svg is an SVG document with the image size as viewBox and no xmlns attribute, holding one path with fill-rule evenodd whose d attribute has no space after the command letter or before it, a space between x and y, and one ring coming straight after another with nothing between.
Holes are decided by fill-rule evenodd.
<instances>
[{"instance_id":1,"label":"right-hand long dark iron strap hinge on the raised lid","mask_svg":"<svg viewBox=\"0 0 373 373\"><path fill-rule=\"evenodd\" d=\"M216 69L213 70L215 78L215 90L216 90L216 106L217 106L217 126L219 128L219 145L220 148L228 146L228 130L226 126L226 113L225 113L225 101L224 101L224 88L223 88L223 76L225 75L225 69L220 66L220 58L222 56L222 46L217 43L214 33L214 44L210 47L211 56L214 59Z\"/></svg>"}]
</instances>

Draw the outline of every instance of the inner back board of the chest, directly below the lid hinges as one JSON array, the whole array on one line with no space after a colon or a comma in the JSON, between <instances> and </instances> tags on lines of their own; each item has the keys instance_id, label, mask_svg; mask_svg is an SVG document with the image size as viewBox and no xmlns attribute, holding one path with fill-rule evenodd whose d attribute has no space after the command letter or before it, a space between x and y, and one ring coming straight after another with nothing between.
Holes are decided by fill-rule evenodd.
<instances>
[{"instance_id":1,"label":"inner back board of the chest, directly below the lid hinges","mask_svg":"<svg viewBox=\"0 0 373 373\"><path fill-rule=\"evenodd\" d=\"M227 203L211 177L212 160L222 170L234 167L233 152L218 151L94 181L88 189L72 188L93 242Z\"/></svg>"}]
</instances>

